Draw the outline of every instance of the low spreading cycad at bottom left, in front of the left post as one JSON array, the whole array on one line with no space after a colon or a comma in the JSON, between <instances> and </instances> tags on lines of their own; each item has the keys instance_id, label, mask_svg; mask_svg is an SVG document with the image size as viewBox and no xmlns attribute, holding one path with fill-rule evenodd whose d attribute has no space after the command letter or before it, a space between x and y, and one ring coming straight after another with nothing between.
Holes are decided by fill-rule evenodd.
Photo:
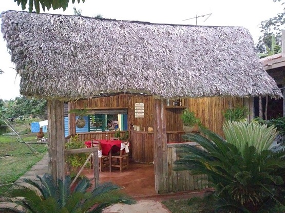
<instances>
[{"instance_id":1,"label":"low spreading cycad at bottom left, in front of the left post","mask_svg":"<svg viewBox=\"0 0 285 213\"><path fill-rule=\"evenodd\" d=\"M104 209L116 203L133 204L134 201L120 193L119 186L104 183L93 190L88 178L83 178L71 191L70 177L65 180L53 181L50 174L45 174L40 179L40 184L24 179L30 186L13 185L4 190L0 201L17 204L16 208L1 207L0 212L102 212ZM3 189L1 190L3 191ZM9 205L11 206L11 205ZM20 209L20 210L19 210Z\"/></svg>"}]
</instances>

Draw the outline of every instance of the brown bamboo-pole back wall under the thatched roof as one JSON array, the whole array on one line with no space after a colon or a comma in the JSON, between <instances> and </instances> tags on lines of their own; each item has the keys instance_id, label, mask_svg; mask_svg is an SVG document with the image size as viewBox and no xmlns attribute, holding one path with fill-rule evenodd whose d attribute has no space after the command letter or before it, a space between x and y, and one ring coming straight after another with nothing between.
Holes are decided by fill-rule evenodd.
<instances>
[{"instance_id":1,"label":"brown bamboo-pole back wall under the thatched roof","mask_svg":"<svg viewBox=\"0 0 285 213\"><path fill-rule=\"evenodd\" d=\"M166 100L165 100L166 102ZM144 118L135 118L135 103L144 103ZM196 117L200 118L202 124L208 127L219 135L222 133L222 123L224 121L223 112L226 109L236 106L243 106L244 98L238 97L210 97L210 98L188 98L183 99L182 104L189 108L190 111L195 112ZM74 108L90 108L90 109L128 109L128 129L130 124L140 126L141 130L147 126L153 127L153 104L154 98L152 96L137 96L137 95L117 95L112 97L101 97L76 101ZM170 107L172 101L170 101ZM72 109L72 108L71 108ZM184 109L182 108L167 108L166 113L166 130L169 132L183 131L182 120L180 114ZM75 119L74 117L72 117ZM72 125L75 125L71 121ZM196 129L198 127L196 126Z\"/></svg>"}]
</instances>

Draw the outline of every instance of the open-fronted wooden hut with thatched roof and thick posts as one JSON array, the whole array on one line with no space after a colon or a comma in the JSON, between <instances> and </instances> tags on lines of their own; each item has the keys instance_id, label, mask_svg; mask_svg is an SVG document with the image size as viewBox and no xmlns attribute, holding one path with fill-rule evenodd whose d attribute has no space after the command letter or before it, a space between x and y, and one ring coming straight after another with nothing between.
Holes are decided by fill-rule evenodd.
<instances>
[{"instance_id":1,"label":"open-fronted wooden hut with thatched roof and thick posts","mask_svg":"<svg viewBox=\"0 0 285 213\"><path fill-rule=\"evenodd\" d=\"M153 153L157 193L167 193L186 190L189 181L189 174L173 173L176 146L167 143L183 133L181 109L195 111L204 125L220 133L223 110L234 105L252 110L253 96L282 96L242 27L22 11L6 11L1 17L11 60L21 75L21 94L48 101L49 167L54 177L64 177L64 101L69 109L87 108L94 114L127 109L128 124L153 127L152 134L142 132L137 138L153 138L152 144L141 147ZM167 106L167 99L170 104L182 99L181 106ZM143 116L136 116L136 103L143 103ZM75 133L74 120L70 115L69 134ZM95 137L92 134L82 134L82 139Z\"/></svg>"}]
</instances>

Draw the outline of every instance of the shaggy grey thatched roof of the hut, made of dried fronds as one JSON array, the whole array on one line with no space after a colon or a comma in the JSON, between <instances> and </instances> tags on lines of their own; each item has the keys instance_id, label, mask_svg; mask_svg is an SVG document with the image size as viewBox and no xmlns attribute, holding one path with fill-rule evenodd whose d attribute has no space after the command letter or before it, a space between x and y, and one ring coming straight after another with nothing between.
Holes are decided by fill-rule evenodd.
<instances>
[{"instance_id":1,"label":"shaggy grey thatched roof of the hut, made of dried fronds","mask_svg":"<svg viewBox=\"0 0 285 213\"><path fill-rule=\"evenodd\" d=\"M21 94L90 98L281 95L242 27L150 24L83 16L2 13Z\"/></svg>"}]
</instances>

